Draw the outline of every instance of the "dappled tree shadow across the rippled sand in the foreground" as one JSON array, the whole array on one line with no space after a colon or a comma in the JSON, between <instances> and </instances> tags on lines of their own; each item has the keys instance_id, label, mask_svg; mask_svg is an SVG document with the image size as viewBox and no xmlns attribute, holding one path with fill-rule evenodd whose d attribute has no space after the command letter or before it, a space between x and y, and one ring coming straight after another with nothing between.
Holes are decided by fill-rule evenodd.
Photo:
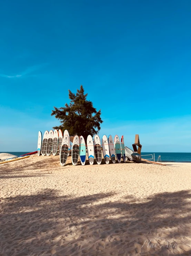
<instances>
[{"instance_id":1,"label":"dappled tree shadow across the rippled sand in the foreground","mask_svg":"<svg viewBox=\"0 0 191 256\"><path fill-rule=\"evenodd\" d=\"M109 196L75 198L46 189L1 199L2 255L191 255L190 191L141 201ZM167 248L167 240L174 245L179 237L181 248ZM147 246L151 239L154 248Z\"/></svg>"}]
</instances>

